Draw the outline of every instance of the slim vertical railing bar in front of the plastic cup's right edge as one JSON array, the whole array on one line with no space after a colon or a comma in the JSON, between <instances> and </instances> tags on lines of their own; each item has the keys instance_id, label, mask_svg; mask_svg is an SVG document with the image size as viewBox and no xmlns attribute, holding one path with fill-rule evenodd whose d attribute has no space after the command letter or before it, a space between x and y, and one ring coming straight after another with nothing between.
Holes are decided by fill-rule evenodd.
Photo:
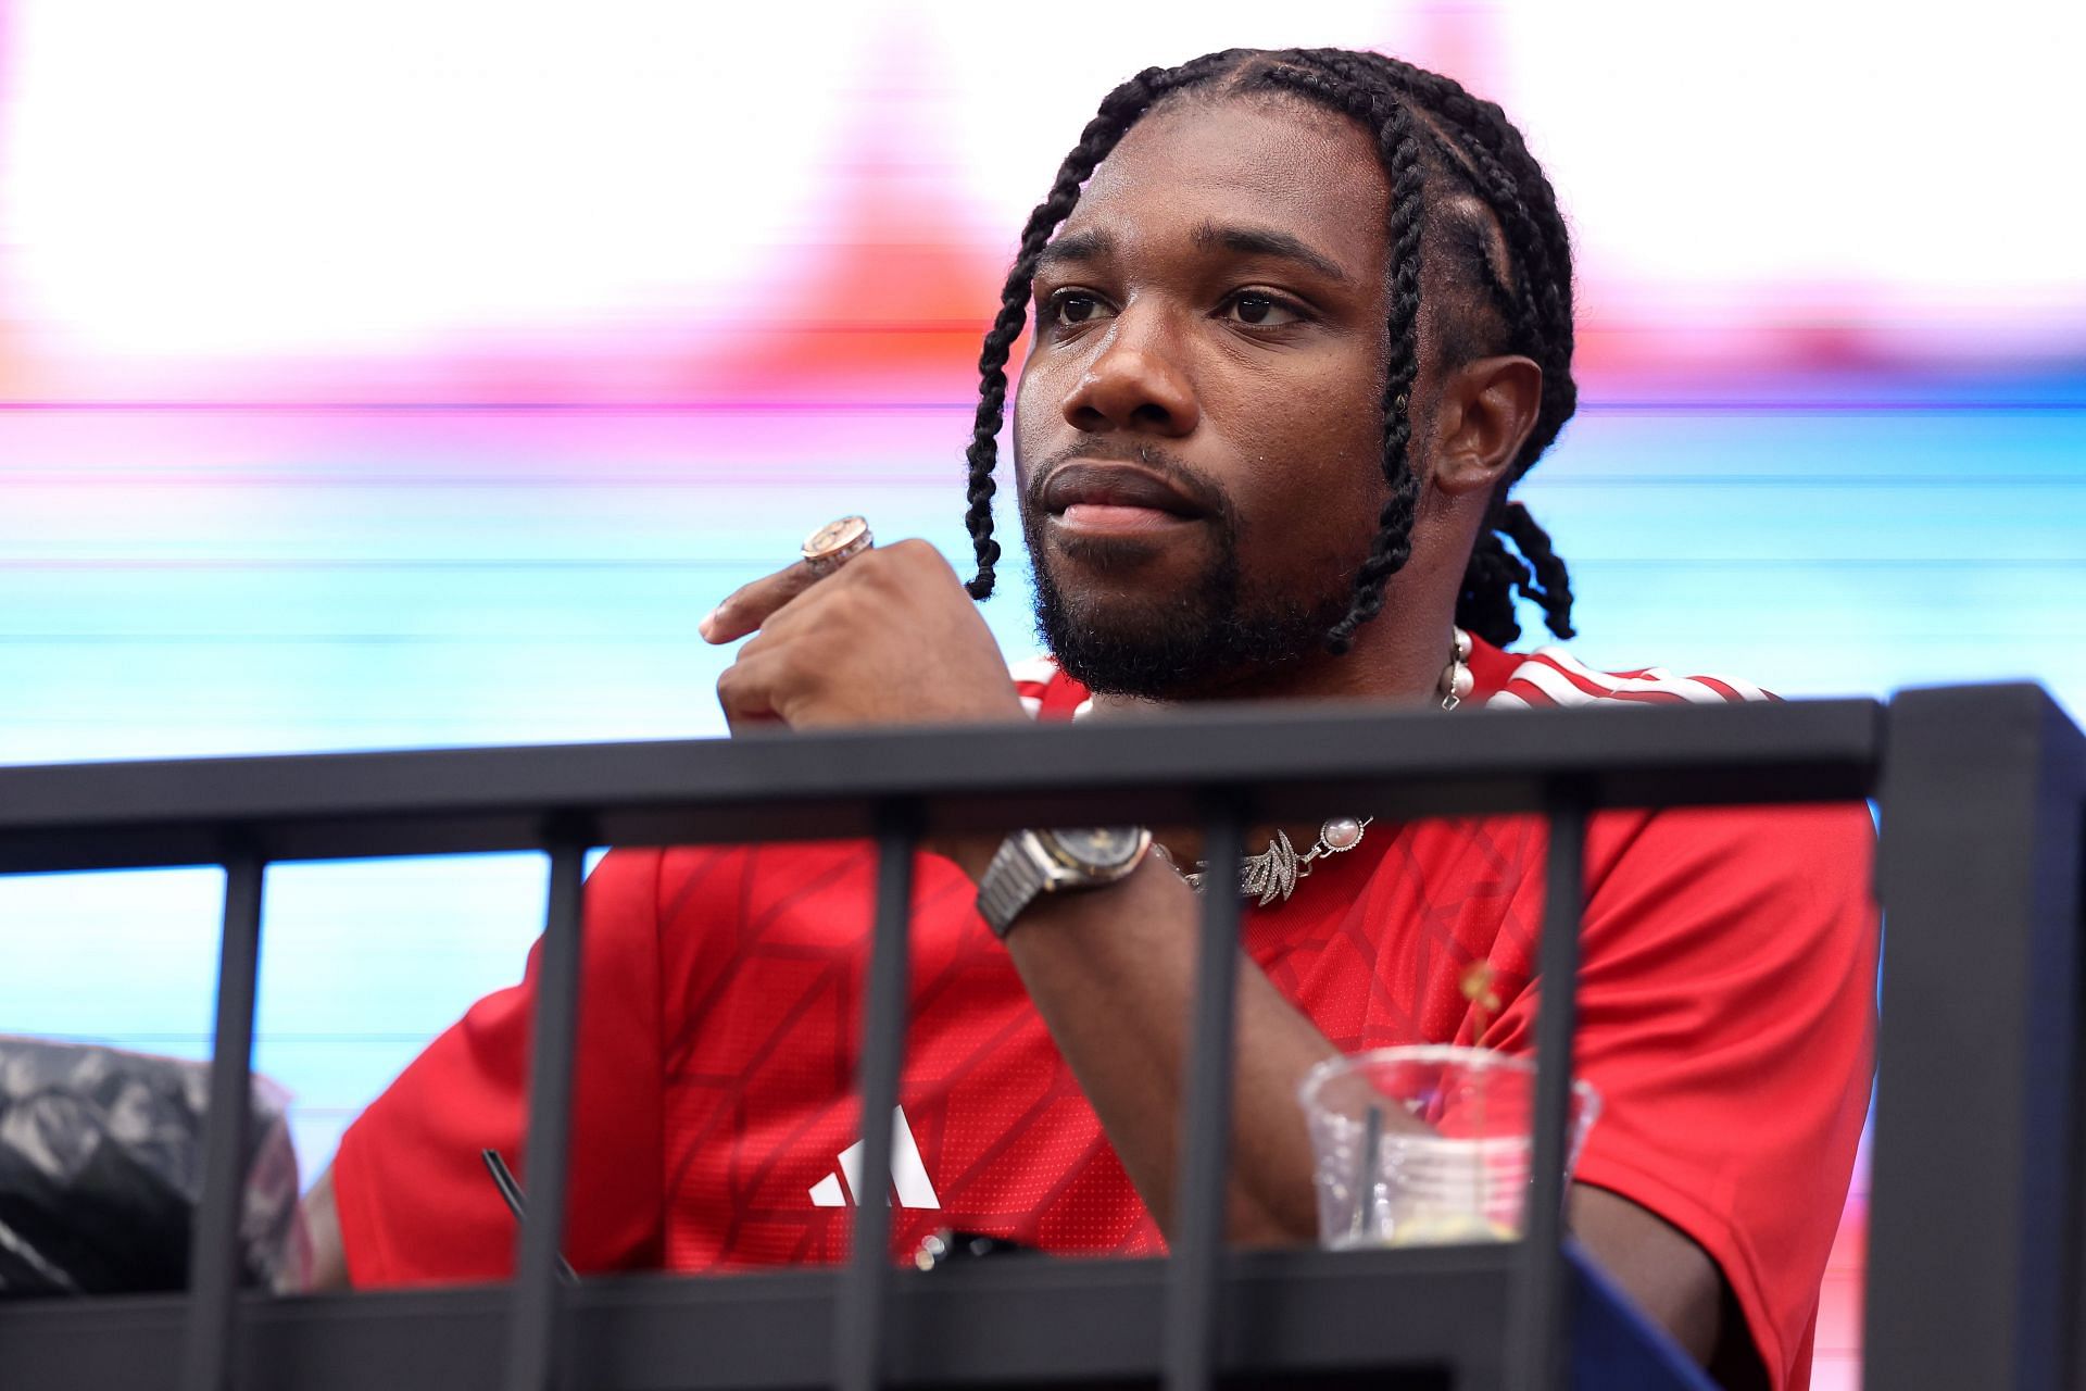
<instances>
[{"instance_id":1,"label":"slim vertical railing bar in front of the plastic cup's right edge","mask_svg":"<svg viewBox=\"0 0 2086 1391\"><path fill-rule=\"evenodd\" d=\"M1544 941L1535 1009L1535 1180L1523 1222L1521 1266L1508 1305L1508 1387L1567 1385L1571 1333L1564 1268L1564 1153L1571 1128L1573 1032L1579 1026L1579 920L1585 911L1585 803L1560 786L1550 805L1544 872Z\"/></svg>"}]
</instances>

